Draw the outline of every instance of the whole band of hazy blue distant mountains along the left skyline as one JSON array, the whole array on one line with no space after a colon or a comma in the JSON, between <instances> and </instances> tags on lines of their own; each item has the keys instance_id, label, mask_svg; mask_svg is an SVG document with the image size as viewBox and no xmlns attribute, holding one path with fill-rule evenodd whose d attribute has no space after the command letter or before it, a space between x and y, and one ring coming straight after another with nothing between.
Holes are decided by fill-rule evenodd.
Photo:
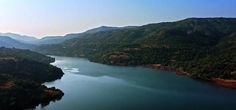
<instances>
[{"instance_id":1,"label":"whole band of hazy blue distant mountains along the left skyline","mask_svg":"<svg viewBox=\"0 0 236 110\"><path fill-rule=\"evenodd\" d=\"M25 35L14 34L14 33L0 33L0 40L1 42L4 42L4 43L1 43L0 46L16 47L16 48L32 48L31 47L32 45L59 44L69 39L79 38L80 36L85 35L85 34L94 34L97 32L108 32L108 31L112 31L116 29L119 29L119 28L101 26L98 28L88 30L83 33L73 33L73 34L67 34L65 36L45 36L41 39L37 39L32 36L25 36Z\"/></svg>"}]
</instances>

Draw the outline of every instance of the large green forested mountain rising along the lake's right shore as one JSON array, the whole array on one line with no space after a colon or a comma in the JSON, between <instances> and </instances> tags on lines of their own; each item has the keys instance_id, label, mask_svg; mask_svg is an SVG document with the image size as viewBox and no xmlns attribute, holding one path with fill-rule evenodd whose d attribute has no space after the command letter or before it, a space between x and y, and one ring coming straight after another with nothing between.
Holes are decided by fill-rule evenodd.
<instances>
[{"instance_id":1,"label":"large green forested mountain rising along the lake's right shore","mask_svg":"<svg viewBox=\"0 0 236 110\"><path fill-rule=\"evenodd\" d=\"M188 18L86 34L35 50L111 65L152 65L204 80L236 79L235 30L236 18Z\"/></svg>"}]
</instances>

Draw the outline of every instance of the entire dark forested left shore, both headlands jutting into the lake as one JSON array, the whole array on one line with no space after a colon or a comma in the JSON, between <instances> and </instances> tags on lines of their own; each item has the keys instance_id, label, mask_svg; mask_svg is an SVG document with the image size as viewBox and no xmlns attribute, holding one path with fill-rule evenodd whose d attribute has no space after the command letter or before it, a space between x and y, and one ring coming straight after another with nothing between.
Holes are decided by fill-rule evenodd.
<instances>
[{"instance_id":1,"label":"entire dark forested left shore, both headlands jutting into the lake","mask_svg":"<svg viewBox=\"0 0 236 110\"><path fill-rule=\"evenodd\" d=\"M29 50L0 48L0 109L23 110L59 100L63 92L41 85L59 79L54 59Z\"/></svg>"}]
</instances>

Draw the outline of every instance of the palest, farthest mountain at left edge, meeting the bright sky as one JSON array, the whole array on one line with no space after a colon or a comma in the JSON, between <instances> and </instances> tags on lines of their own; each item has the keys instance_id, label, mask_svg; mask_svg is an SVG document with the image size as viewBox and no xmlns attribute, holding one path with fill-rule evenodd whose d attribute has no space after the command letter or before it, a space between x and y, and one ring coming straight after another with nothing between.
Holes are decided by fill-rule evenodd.
<instances>
[{"instance_id":1,"label":"palest, farthest mountain at left edge, meeting the bright sky","mask_svg":"<svg viewBox=\"0 0 236 110\"><path fill-rule=\"evenodd\" d=\"M19 34L14 34L14 33L0 33L0 36L8 36L12 39L15 39L19 42L22 43L31 43L35 40L37 40L35 37L30 37L30 36L25 36L25 35L19 35Z\"/></svg>"}]
</instances>

